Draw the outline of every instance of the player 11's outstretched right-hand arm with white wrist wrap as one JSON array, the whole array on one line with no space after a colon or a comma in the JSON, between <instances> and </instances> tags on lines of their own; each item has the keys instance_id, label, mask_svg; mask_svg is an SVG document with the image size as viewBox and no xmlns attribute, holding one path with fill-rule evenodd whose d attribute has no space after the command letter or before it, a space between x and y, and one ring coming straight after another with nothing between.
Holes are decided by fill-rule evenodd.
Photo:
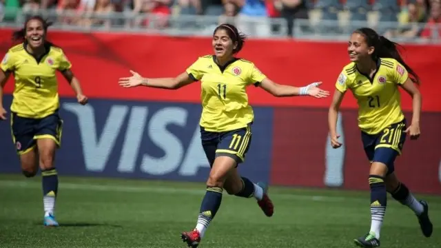
<instances>
[{"instance_id":1,"label":"player 11's outstretched right-hand arm with white wrist wrap","mask_svg":"<svg viewBox=\"0 0 441 248\"><path fill-rule=\"evenodd\" d=\"M277 97L283 96L314 96L316 98L322 98L329 96L329 92L326 90L321 90L317 86L320 83L311 83L305 87L294 87L291 85L280 85L278 83L274 83L271 79L265 78L262 82L260 82L260 87L263 88L269 94Z\"/></svg>"}]
</instances>

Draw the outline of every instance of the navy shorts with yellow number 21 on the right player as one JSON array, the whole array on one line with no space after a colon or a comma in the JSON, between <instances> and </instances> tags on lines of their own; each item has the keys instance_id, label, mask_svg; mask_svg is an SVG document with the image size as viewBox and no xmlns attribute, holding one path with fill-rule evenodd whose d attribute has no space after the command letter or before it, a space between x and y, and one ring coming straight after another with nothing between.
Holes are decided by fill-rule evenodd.
<instances>
[{"instance_id":1,"label":"navy shorts with yellow number 21 on the right player","mask_svg":"<svg viewBox=\"0 0 441 248\"><path fill-rule=\"evenodd\" d=\"M406 119L384 128L378 134L361 132L367 158L371 163L380 162L387 165L387 174L391 174L395 170L393 162L398 155L401 155L404 141L406 141L405 130Z\"/></svg>"}]
</instances>

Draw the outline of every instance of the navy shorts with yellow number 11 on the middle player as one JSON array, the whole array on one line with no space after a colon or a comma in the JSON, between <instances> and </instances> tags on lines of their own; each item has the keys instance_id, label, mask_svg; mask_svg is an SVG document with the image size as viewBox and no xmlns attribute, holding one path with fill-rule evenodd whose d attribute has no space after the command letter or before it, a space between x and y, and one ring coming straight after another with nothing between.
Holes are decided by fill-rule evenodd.
<instances>
[{"instance_id":1,"label":"navy shorts with yellow number 11 on the middle player","mask_svg":"<svg viewBox=\"0 0 441 248\"><path fill-rule=\"evenodd\" d=\"M243 163L251 144L251 137L251 123L247 127L227 132L209 132L201 127L202 147L210 167L217 156L229 156L234 158L236 163Z\"/></svg>"}]
</instances>

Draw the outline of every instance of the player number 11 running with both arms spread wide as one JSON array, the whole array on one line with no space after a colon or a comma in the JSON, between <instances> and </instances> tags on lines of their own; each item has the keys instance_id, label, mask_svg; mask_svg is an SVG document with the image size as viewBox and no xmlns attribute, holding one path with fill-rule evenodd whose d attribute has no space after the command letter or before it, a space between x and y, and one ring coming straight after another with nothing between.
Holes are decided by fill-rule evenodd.
<instances>
[{"instance_id":1,"label":"player number 11 running with both arms spread wide","mask_svg":"<svg viewBox=\"0 0 441 248\"><path fill-rule=\"evenodd\" d=\"M177 90L202 82L201 139L203 149L212 167L207 180L198 222L193 231L183 232L182 239L189 247L197 247L220 207L223 189L228 194L257 199L266 216L272 216L274 207L267 196L267 185L254 184L240 177L236 167L242 163L252 138L254 121L245 88L256 85L274 96L314 96L322 98L329 92L320 90L320 83L305 87L278 85L260 72L254 63L234 57L245 43L245 37L234 25L219 25L214 30L214 55L200 57L186 72L176 78L146 79L136 72L119 79L123 87L139 85Z\"/></svg>"}]
</instances>

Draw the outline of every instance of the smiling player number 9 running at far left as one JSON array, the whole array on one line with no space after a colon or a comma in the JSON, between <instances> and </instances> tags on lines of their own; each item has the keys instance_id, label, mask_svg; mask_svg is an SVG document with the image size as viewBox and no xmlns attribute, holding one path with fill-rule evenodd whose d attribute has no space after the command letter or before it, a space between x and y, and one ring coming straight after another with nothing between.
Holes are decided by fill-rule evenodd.
<instances>
[{"instance_id":1,"label":"smiling player number 9 running at far left","mask_svg":"<svg viewBox=\"0 0 441 248\"><path fill-rule=\"evenodd\" d=\"M58 176L54 167L55 149L60 147L63 121L59 116L59 70L76 93L82 105L88 102L80 83L70 70L71 64L61 48L46 41L50 23L41 17L30 17L24 28L14 32L14 39L24 39L4 56L0 65L0 118L6 120L2 89L10 74L15 87L11 105L12 140L20 156L21 169L26 177L43 176L44 225L58 226L54 218Z\"/></svg>"}]
</instances>

